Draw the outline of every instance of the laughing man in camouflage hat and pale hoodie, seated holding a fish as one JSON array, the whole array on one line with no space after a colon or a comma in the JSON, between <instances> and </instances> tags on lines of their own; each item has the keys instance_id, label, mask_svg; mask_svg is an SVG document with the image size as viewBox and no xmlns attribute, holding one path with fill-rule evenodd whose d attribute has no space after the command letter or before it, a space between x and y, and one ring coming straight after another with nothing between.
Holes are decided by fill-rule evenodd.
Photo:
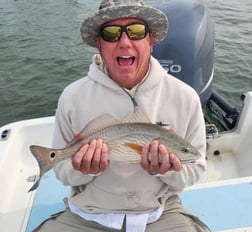
<instances>
[{"instance_id":1,"label":"laughing man in camouflage hat and pale hoodie, seated holding a fish","mask_svg":"<svg viewBox=\"0 0 252 232\"><path fill-rule=\"evenodd\" d=\"M54 147L64 147L99 115L122 120L138 106L153 123L172 126L201 157L182 165L155 140L144 146L140 163L120 165L109 162L109 148L97 138L57 165L57 178L72 186L68 206L35 231L209 231L178 197L204 174L206 142L198 95L151 56L167 28L165 14L141 0L102 1L81 26L83 41L99 55L87 77L59 99Z\"/></svg>"}]
</instances>

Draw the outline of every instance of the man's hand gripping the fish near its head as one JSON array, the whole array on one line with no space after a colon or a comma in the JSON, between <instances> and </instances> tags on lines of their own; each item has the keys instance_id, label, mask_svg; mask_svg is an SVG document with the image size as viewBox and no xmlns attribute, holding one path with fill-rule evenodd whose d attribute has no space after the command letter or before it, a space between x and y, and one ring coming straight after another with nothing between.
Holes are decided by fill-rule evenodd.
<instances>
[{"instance_id":1,"label":"man's hand gripping the fish near its head","mask_svg":"<svg viewBox=\"0 0 252 232\"><path fill-rule=\"evenodd\" d=\"M141 166L150 174L165 174L168 171L180 171L182 164L174 153L169 153L163 144L153 140L142 150Z\"/></svg>"}]
</instances>

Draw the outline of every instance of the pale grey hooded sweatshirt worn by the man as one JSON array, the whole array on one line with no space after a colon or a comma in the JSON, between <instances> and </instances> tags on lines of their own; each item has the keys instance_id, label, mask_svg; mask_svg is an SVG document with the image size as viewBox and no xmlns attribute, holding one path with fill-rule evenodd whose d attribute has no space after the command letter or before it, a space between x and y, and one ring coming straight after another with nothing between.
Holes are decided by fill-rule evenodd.
<instances>
[{"instance_id":1,"label":"pale grey hooded sweatshirt worn by the man","mask_svg":"<svg viewBox=\"0 0 252 232\"><path fill-rule=\"evenodd\" d=\"M183 165L180 172L155 176L139 164L117 163L111 163L99 175L83 175L73 169L70 160L59 163L55 173L64 185L73 187L70 201L86 212L150 212L205 174L205 124L200 100L190 86L167 74L153 57L149 72L131 90L123 90L105 70L103 63L97 65L94 58L88 75L64 89L56 112L55 148L64 147L73 138L73 132L81 131L101 114L123 119L134 110L130 94L153 123L169 124L198 148L202 157L196 163Z\"/></svg>"}]
</instances>

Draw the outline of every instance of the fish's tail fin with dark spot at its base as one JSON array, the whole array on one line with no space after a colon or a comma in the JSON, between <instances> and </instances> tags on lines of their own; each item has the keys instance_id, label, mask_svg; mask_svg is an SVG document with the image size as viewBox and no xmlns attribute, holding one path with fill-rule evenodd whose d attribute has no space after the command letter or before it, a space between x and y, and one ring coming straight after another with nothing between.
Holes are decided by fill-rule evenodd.
<instances>
[{"instance_id":1,"label":"fish's tail fin with dark spot at its base","mask_svg":"<svg viewBox=\"0 0 252 232\"><path fill-rule=\"evenodd\" d=\"M53 159L55 157L53 150L47 147L32 145L30 146L30 151L38 162L40 174L38 180L28 192L35 190L39 186L41 177L53 167Z\"/></svg>"}]
</instances>

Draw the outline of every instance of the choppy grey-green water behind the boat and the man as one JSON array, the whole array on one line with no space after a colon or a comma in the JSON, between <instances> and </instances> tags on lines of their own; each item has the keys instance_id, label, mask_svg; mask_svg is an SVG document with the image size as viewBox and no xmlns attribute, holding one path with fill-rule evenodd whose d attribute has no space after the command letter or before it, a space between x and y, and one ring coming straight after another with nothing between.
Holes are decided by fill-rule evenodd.
<instances>
[{"instance_id":1,"label":"choppy grey-green water behind the boat and the man","mask_svg":"<svg viewBox=\"0 0 252 232\"><path fill-rule=\"evenodd\" d=\"M0 0L0 126L53 115L62 89L86 74L95 50L79 27L99 2ZM214 87L239 106L252 89L252 2L203 2L216 27Z\"/></svg>"}]
</instances>

